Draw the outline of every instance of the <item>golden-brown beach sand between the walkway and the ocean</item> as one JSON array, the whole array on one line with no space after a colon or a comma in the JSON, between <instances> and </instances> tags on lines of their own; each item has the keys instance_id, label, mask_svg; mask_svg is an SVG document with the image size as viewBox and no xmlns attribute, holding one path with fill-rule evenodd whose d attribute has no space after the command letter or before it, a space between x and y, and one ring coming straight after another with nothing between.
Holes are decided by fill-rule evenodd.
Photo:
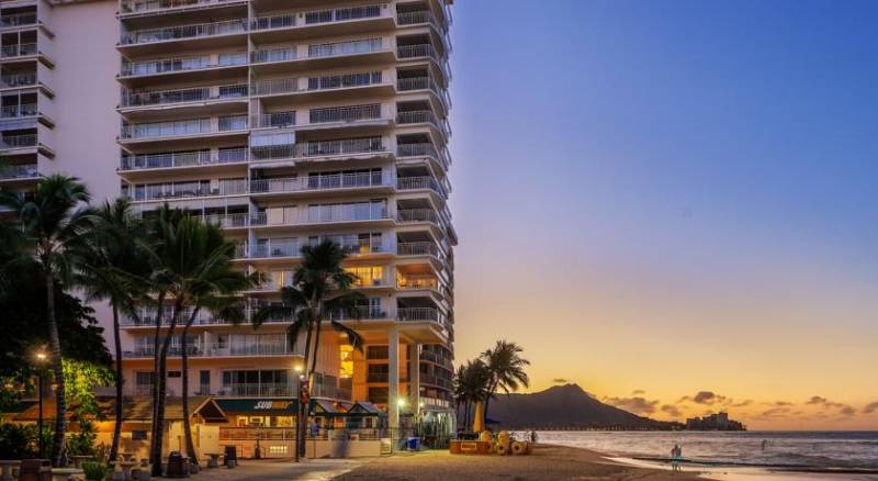
<instances>
[{"instance_id":1,"label":"golden-brown beach sand between the walkway and the ocean","mask_svg":"<svg viewBox=\"0 0 878 481\"><path fill-rule=\"evenodd\" d=\"M468 456L448 451L401 454L367 461L336 480L695 480L696 471L672 473L616 463L581 448L538 445L530 456Z\"/></svg>"}]
</instances>

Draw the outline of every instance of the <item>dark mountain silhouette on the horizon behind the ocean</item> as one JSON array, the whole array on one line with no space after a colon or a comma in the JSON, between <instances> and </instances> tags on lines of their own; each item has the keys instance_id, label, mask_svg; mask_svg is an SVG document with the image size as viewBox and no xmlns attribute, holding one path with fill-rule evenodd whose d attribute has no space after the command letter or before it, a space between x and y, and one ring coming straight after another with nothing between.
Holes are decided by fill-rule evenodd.
<instances>
[{"instance_id":1,"label":"dark mountain silhouette on the horizon behind the ocean","mask_svg":"<svg viewBox=\"0 0 878 481\"><path fill-rule=\"evenodd\" d=\"M531 394L496 394L488 410L487 416L508 429L684 427L679 423L655 421L604 404L577 384L554 385Z\"/></svg>"}]
</instances>

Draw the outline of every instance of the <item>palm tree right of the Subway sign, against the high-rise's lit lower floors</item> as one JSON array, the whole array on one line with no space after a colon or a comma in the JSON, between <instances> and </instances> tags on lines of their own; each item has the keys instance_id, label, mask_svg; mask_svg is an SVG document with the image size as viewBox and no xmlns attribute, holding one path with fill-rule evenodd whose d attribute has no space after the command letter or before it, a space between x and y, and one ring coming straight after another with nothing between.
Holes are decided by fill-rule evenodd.
<instances>
[{"instance_id":1,"label":"palm tree right of the Subway sign, against the high-rise's lit lower floors","mask_svg":"<svg viewBox=\"0 0 878 481\"><path fill-rule=\"evenodd\" d=\"M351 291L358 279L341 267L346 257L338 244L329 239L317 245L303 246L302 264L293 272L292 284L281 290L281 306L260 310L254 316L257 326L278 311L291 316L292 323L286 333L291 345L294 345L299 334L305 331L304 360L308 385L314 383L320 331L325 322L328 322L331 328L346 334L348 343L354 349L362 349L360 335L338 321L339 317L359 318L365 300L361 293ZM304 413L305 406L300 405L300 415ZM301 441L305 433L304 423L297 428L296 439ZM304 443L296 443L296 446L303 454Z\"/></svg>"}]
</instances>

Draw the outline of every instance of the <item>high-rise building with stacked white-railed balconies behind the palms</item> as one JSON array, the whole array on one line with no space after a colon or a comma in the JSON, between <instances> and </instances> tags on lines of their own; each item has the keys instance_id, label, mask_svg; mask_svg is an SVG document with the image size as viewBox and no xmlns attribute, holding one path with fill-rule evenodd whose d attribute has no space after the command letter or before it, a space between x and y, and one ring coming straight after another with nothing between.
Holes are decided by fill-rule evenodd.
<instances>
[{"instance_id":1,"label":"high-rise building with stacked white-railed balconies behind the palms","mask_svg":"<svg viewBox=\"0 0 878 481\"><path fill-rule=\"evenodd\" d=\"M368 297L338 321L365 346L324 332L312 395L324 411L378 406L390 426L448 420L450 3L3 0L0 186L66 172L99 201L218 223L240 269L267 279L243 293L254 309L279 302L302 246L335 240ZM148 395L155 313L123 323L126 393ZM189 333L189 391L229 429L289 426L278 406L296 395L304 342L288 325L204 312Z\"/></svg>"}]
</instances>

